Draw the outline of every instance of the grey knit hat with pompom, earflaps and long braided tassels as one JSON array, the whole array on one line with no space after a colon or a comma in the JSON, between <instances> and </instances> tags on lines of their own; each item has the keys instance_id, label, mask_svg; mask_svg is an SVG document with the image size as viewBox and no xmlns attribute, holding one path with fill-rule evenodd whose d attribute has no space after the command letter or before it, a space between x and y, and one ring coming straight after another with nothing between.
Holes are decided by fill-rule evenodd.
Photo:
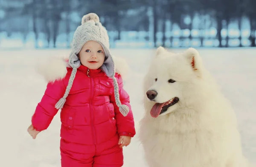
<instances>
[{"instance_id":1,"label":"grey knit hat with pompom, earflaps and long braided tassels","mask_svg":"<svg viewBox=\"0 0 256 167\"><path fill-rule=\"evenodd\" d=\"M73 68L73 70L67 85L66 92L64 93L64 96L56 103L55 108L63 108L75 79L77 68L79 68L81 65L77 54L79 54L83 45L90 40L99 42L99 44L102 45L102 48L105 52L105 61L101 67L102 71L104 71L108 77L113 79L116 105L119 107L119 111L122 113L122 115L127 116L129 108L126 105L122 105L119 99L119 88L115 77L115 64L109 50L108 33L105 27L103 27L99 22L99 16L95 13L84 15L81 21L81 25L76 29L74 33L72 51L68 60L68 63L71 68Z\"/></svg>"}]
</instances>

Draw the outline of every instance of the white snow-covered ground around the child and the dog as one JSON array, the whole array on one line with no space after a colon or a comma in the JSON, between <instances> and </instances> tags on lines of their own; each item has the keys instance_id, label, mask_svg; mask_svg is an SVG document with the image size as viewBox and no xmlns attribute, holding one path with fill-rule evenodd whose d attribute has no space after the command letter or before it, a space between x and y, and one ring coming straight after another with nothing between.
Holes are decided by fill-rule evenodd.
<instances>
[{"instance_id":1,"label":"white snow-covered ground around the child and the dog","mask_svg":"<svg viewBox=\"0 0 256 167\"><path fill-rule=\"evenodd\" d=\"M151 50L112 50L131 67L125 89L131 96L134 119L143 116L142 79ZM179 51L179 50L175 50ZM256 49L199 49L204 62L221 85L237 113L244 155L256 165ZM60 167L59 113L49 128L32 140L26 132L46 83L34 71L38 57L69 54L69 50L0 51L0 167ZM228 120L227 120L228 121ZM138 130L137 130L138 132ZM124 148L123 167L146 167L137 136Z\"/></svg>"}]
</instances>

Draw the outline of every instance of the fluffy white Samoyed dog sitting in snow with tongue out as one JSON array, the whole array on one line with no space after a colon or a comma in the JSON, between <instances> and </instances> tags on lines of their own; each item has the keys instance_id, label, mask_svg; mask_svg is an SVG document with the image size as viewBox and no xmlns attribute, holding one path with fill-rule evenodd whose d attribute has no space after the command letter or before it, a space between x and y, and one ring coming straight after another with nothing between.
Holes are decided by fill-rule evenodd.
<instances>
[{"instance_id":1,"label":"fluffy white Samoyed dog sitting in snow with tongue out","mask_svg":"<svg viewBox=\"0 0 256 167\"><path fill-rule=\"evenodd\" d=\"M149 167L248 167L236 114L196 49L157 48L143 87L139 136Z\"/></svg>"}]
</instances>

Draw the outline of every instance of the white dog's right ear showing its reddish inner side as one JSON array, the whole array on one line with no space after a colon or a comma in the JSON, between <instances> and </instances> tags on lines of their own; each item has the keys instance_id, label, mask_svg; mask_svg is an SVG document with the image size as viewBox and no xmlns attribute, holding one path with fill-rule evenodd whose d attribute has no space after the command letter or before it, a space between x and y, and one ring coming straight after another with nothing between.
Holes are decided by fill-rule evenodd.
<instances>
[{"instance_id":1,"label":"white dog's right ear showing its reddish inner side","mask_svg":"<svg viewBox=\"0 0 256 167\"><path fill-rule=\"evenodd\" d=\"M184 53L186 59L189 61L192 69L198 74L201 75L201 68L203 66L202 59L195 48L189 48Z\"/></svg>"}]
</instances>

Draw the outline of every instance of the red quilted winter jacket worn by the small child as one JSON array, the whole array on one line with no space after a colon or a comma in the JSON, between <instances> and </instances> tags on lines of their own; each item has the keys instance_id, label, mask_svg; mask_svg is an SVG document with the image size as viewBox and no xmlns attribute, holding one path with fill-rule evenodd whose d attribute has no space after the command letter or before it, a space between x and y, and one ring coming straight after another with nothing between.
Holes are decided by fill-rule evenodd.
<instances>
[{"instance_id":1,"label":"red quilted winter jacket worn by the small child","mask_svg":"<svg viewBox=\"0 0 256 167\"><path fill-rule=\"evenodd\" d=\"M129 95L123 89L122 77L116 74L122 104L130 111L123 116L116 106L113 80L98 70L89 70L81 65L74 79L67 101L61 110L61 138L81 144L99 144L119 136L135 135L134 118L129 104ZM67 68L63 79L47 84L41 102L32 116L36 130L45 130L58 112L55 104L64 95L72 68Z\"/></svg>"}]
</instances>

